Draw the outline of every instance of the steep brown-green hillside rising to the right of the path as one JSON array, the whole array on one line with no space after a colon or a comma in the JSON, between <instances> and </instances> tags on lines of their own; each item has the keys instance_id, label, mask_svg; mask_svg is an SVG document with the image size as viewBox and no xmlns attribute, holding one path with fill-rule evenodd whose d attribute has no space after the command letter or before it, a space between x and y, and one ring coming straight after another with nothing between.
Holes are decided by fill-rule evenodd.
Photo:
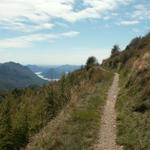
<instances>
[{"instance_id":1,"label":"steep brown-green hillside rising to the right of the path","mask_svg":"<svg viewBox=\"0 0 150 150\"><path fill-rule=\"evenodd\" d=\"M125 150L150 149L150 34L131 41L126 49L103 62L121 74L118 142Z\"/></svg>"}]
</instances>

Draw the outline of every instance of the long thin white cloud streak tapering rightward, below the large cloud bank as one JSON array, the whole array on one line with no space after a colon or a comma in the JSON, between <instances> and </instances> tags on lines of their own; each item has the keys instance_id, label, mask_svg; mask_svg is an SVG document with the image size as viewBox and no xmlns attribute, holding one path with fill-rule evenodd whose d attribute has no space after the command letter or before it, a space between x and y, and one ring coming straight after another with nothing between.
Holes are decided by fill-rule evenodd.
<instances>
[{"instance_id":1,"label":"long thin white cloud streak tapering rightward, below the large cloud bank","mask_svg":"<svg viewBox=\"0 0 150 150\"><path fill-rule=\"evenodd\" d=\"M0 48L26 48L32 46L35 42L54 42L57 39L75 37L79 34L79 32L70 31L59 34L31 34L16 38L2 39L0 40Z\"/></svg>"}]
</instances>

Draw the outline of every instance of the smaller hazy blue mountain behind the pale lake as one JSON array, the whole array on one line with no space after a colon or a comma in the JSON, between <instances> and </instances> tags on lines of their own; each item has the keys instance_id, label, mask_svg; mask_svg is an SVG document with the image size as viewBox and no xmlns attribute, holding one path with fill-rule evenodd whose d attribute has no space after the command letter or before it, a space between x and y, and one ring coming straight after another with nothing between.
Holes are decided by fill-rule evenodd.
<instances>
[{"instance_id":1,"label":"smaller hazy blue mountain behind the pale lake","mask_svg":"<svg viewBox=\"0 0 150 150\"><path fill-rule=\"evenodd\" d=\"M52 67L48 71L42 73L45 78L60 79L64 74L73 72L79 69L81 66L76 65L63 65L59 67Z\"/></svg>"}]
</instances>

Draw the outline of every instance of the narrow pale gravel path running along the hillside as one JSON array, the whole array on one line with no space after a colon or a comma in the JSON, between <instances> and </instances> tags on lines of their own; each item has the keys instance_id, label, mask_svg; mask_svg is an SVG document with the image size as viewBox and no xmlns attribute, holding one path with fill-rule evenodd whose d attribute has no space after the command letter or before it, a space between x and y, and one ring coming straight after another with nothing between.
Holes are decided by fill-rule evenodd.
<instances>
[{"instance_id":1,"label":"narrow pale gravel path running along the hillside","mask_svg":"<svg viewBox=\"0 0 150 150\"><path fill-rule=\"evenodd\" d=\"M107 102L101 119L99 140L95 150L123 150L116 144L116 112L115 103L118 96L119 75L115 74L114 81L108 91Z\"/></svg>"}]
</instances>

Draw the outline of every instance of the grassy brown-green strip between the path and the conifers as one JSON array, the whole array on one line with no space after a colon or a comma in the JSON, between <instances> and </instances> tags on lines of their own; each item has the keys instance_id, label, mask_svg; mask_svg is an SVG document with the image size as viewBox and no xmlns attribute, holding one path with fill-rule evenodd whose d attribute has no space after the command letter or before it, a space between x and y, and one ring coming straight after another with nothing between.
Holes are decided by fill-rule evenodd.
<instances>
[{"instance_id":1,"label":"grassy brown-green strip between the path and the conifers","mask_svg":"<svg viewBox=\"0 0 150 150\"><path fill-rule=\"evenodd\" d=\"M103 70L92 71L92 81L84 82L65 109L39 134L31 139L29 150L92 149L97 139L100 114L112 74Z\"/></svg>"}]
</instances>

